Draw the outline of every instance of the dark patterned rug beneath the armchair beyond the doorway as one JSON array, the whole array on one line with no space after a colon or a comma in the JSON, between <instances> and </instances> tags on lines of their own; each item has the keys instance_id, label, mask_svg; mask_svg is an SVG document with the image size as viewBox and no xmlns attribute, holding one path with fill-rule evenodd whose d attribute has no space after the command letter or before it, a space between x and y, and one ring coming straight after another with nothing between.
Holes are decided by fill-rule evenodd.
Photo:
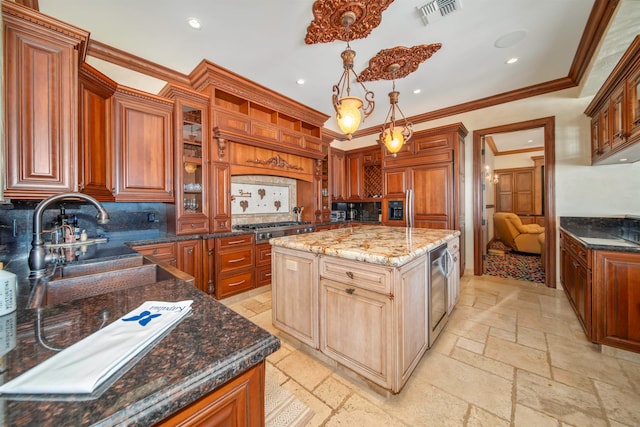
<instances>
[{"instance_id":1,"label":"dark patterned rug beneath the armchair beyond the doorway","mask_svg":"<svg viewBox=\"0 0 640 427\"><path fill-rule=\"evenodd\" d=\"M544 268L540 255L509 251L500 241L490 243L486 265L485 274L489 276L544 283Z\"/></svg>"}]
</instances>

